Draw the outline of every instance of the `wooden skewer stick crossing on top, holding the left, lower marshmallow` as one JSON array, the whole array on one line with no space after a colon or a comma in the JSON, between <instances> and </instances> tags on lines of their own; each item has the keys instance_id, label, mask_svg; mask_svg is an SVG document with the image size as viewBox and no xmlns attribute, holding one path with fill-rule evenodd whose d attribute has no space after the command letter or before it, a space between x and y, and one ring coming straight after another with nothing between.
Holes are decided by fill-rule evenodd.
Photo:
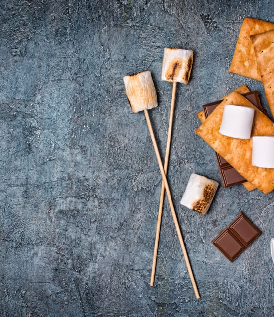
<instances>
[{"instance_id":1,"label":"wooden skewer stick crossing on top, holding the left, lower marshmallow","mask_svg":"<svg viewBox=\"0 0 274 317\"><path fill-rule=\"evenodd\" d=\"M183 251L183 255L184 255L184 258L185 258L186 267L187 267L187 270L188 270L188 273L189 273L189 276L190 276L190 280L191 280L191 283L192 283L196 298L200 298L200 295L199 295L199 292L198 292L198 288L197 288L197 285L196 285L196 282L195 282L195 278L193 276L191 265L190 265L190 262L189 262L189 259L188 259L188 255L187 255L187 251L186 251L186 248L185 248L185 244L184 244L184 241L183 241L181 229L180 229L180 226L179 226L179 223L178 223L177 215L176 215L176 212L175 212L175 209L174 209L174 205L173 205L173 202L172 202L169 184L168 184L168 181L167 181L167 177L166 177L165 170L164 170L164 167L163 167L163 164L162 164L161 156L160 156L160 153L159 153L159 150L158 150L157 142L155 140L154 132L153 132L153 129L152 129L152 125L151 125L149 114L148 114L147 110L144 110L144 115L145 115L145 118L146 118L148 130L149 130L149 133L150 133L150 137L151 137L151 140L152 140L152 144L153 144L153 147L154 147L154 151L155 151L155 154L156 154L158 165L159 165L159 168L160 168L160 171L161 171L161 175L162 175L162 178L163 178L163 181L164 181L164 184L165 184L168 200L169 200L169 203L170 203L172 217L173 217L173 220L174 220L174 224L175 224L175 227L176 227L176 230L177 230L177 234L178 234L178 237L179 237L180 245L181 245L181 248L182 248L182 251Z\"/></svg>"}]
</instances>

